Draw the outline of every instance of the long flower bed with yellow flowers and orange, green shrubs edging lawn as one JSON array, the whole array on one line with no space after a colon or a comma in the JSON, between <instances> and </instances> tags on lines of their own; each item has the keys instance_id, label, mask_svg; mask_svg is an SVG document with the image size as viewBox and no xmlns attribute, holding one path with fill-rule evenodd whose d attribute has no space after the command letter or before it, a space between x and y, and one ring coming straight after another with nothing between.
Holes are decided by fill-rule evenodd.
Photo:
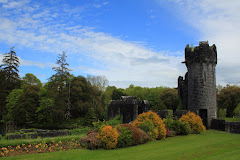
<instances>
[{"instance_id":1,"label":"long flower bed with yellow flowers and orange, green shrubs edging lawn","mask_svg":"<svg viewBox=\"0 0 240 160\"><path fill-rule=\"evenodd\" d=\"M110 126L104 122L98 122L96 126L98 127L95 131L89 131L85 137L79 140L51 141L49 143L42 141L41 143L2 147L0 148L0 157L77 148L123 148L143 144L149 140L164 139L166 135L172 137L188 134L189 130L191 133L201 133L206 130L201 118L192 112L183 115L180 120L165 119L163 121L156 113L149 111L139 115L132 124Z\"/></svg>"}]
</instances>

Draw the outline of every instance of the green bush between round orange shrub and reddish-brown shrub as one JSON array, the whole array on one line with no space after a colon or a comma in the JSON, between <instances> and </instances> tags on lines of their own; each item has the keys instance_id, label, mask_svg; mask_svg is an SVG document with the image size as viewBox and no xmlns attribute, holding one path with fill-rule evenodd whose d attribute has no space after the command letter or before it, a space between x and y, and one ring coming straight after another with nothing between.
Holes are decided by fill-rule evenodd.
<instances>
[{"instance_id":1,"label":"green bush between round orange shrub and reddish-brown shrub","mask_svg":"<svg viewBox=\"0 0 240 160\"><path fill-rule=\"evenodd\" d=\"M127 127L118 127L118 148L124 148L132 145L132 131Z\"/></svg>"}]
</instances>

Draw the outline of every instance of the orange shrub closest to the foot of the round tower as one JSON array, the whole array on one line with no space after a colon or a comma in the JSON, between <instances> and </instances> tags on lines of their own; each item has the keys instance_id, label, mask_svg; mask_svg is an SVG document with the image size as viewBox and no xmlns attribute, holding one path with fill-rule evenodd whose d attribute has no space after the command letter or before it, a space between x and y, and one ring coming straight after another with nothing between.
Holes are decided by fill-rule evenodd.
<instances>
[{"instance_id":1,"label":"orange shrub closest to the foot of the round tower","mask_svg":"<svg viewBox=\"0 0 240 160\"><path fill-rule=\"evenodd\" d=\"M180 121L187 122L190 125L191 133L206 132L206 127L202 123L202 119L199 115L193 112L188 112L180 118Z\"/></svg>"}]
</instances>

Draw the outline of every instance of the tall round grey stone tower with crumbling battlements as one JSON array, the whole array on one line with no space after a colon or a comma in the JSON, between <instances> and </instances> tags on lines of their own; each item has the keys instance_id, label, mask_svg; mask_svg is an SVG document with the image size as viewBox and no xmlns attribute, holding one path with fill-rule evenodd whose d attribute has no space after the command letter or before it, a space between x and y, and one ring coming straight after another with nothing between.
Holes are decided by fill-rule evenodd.
<instances>
[{"instance_id":1,"label":"tall round grey stone tower with crumbling battlements","mask_svg":"<svg viewBox=\"0 0 240 160\"><path fill-rule=\"evenodd\" d=\"M208 128L217 118L216 77L217 50L213 44L199 42L199 46L185 48L187 73L178 78L178 93L185 110L198 114Z\"/></svg>"}]
</instances>

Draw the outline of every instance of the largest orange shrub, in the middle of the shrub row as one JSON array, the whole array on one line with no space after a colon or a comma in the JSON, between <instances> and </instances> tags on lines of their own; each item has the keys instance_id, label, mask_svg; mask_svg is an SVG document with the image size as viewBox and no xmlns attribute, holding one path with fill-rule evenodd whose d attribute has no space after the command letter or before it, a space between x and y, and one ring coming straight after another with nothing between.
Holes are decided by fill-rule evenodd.
<instances>
[{"instance_id":1,"label":"largest orange shrub, in the middle of the shrub row","mask_svg":"<svg viewBox=\"0 0 240 160\"><path fill-rule=\"evenodd\" d=\"M166 137L166 128L162 118L152 111L138 115L132 125L146 130L145 132L152 139L164 139Z\"/></svg>"}]
</instances>

